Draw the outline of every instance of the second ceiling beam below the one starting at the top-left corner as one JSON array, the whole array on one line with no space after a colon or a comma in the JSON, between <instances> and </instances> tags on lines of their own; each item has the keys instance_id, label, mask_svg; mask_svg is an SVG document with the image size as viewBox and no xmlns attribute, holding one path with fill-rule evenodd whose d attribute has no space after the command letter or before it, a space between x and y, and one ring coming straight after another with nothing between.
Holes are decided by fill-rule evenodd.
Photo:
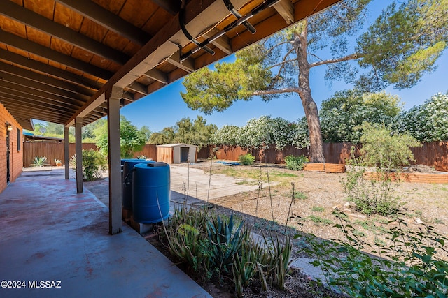
<instances>
[{"instance_id":1,"label":"second ceiling beam below the one starting at the top-left corner","mask_svg":"<svg viewBox=\"0 0 448 298\"><path fill-rule=\"evenodd\" d=\"M53 77L60 77L62 80L72 82L73 84L78 84L87 88L98 90L103 86L102 83L90 80L87 77L82 77L80 75L64 71L61 68L43 64L42 62L28 59L27 57L24 57L20 54L15 54L13 52L0 49L0 61L2 59L13 64L23 66L24 68L38 70L41 73L46 73L48 75L52 75Z\"/></svg>"}]
</instances>

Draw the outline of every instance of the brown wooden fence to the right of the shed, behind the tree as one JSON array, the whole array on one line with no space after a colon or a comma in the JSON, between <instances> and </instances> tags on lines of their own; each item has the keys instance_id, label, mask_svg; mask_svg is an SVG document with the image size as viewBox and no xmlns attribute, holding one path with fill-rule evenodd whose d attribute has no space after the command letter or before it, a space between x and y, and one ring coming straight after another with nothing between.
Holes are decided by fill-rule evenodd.
<instances>
[{"instance_id":1,"label":"brown wooden fence to the right of the shed, behind the tree","mask_svg":"<svg viewBox=\"0 0 448 298\"><path fill-rule=\"evenodd\" d=\"M350 156L351 143L323 143L323 156L327 163L345 164L346 158ZM255 156L255 161L267 163L284 163L288 155L300 156L308 155L308 149L297 149L293 146L286 146L283 150L269 149L242 149L238 146L207 146L203 147L197 158L208 158L211 150L216 148L215 153L218 159L237 161L241 154L250 153ZM358 147L359 149L359 147ZM428 165L437 171L448 172L448 141L424 143L422 147L411 148L415 161L412 164Z\"/></svg>"}]
</instances>

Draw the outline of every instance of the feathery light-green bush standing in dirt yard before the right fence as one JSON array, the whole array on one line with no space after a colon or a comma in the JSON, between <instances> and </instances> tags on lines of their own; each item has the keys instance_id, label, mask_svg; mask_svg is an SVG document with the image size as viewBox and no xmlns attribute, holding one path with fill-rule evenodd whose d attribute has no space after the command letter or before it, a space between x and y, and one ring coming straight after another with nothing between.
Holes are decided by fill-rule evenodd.
<instances>
[{"instance_id":1,"label":"feathery light-green bush standing in dirt yard before the right fence","mask_svg":"<svg viewBox=\"0 0 448 298\"><path fill-rule=\"evenodd\" d=\"M363 214L395 214L400 209L401 200L394 189L400 183L400 167L413 160L409 147L419 143L409 135L393 134L381 126L365 123L362 129L362 155L356 158L352 148L351 159L346 161L351 170L342 179L342 186L348 200L354 202ZM367 166L375 167L373 177L366 177Z\"/></svg>"}]
</instances>

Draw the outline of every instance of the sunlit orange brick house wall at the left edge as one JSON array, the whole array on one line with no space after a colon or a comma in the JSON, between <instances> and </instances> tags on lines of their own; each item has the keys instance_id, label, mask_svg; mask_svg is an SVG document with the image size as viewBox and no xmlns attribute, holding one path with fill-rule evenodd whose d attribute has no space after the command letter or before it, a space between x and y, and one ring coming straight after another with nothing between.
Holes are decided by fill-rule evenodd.
<instances>
[{"instance_id":1,"label":"sunlit orange brick house wall at the left edge","mask_svg":"<svg viewBox=\"0 0 448 298\"><path fill-rule=\"evenodd\" d=\"M15 121L8 110L0 104L0 193L6 188L6 123L13 126L13 130L9 133L10 182L15 181L19 177L23 167L22 127ZM18 135L20 135L20 150L18 147Z\"/></svg>"}]
</instances>

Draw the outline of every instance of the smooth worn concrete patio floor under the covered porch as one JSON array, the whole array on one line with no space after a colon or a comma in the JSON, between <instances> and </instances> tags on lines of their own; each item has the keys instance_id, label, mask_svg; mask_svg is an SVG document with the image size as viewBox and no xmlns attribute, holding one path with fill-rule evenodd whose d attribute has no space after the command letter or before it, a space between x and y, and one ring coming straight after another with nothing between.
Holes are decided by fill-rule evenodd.
<instances>
[{"instance_id":1,"label":"smooth worn concrete patio floor under the covered porch","mask_svg":"<svg viewBox=\"0 0 448 298\"><path fill-rule=\"evenodd\" d=\"M0 225L0 297L211 297L132 228L109 235L108 208L62 169L23 172Z\"/></svg>"}]
</instances>

